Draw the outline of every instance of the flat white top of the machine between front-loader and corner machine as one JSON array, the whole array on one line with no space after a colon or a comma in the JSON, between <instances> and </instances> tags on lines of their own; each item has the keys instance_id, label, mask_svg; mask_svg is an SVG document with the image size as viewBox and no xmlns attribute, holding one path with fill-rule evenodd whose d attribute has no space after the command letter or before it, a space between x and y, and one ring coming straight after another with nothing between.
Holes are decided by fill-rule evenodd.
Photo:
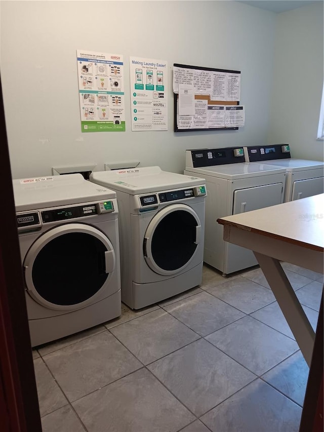
<instances>
[{"instance_id":1,"label":"flat white top of the machine between front-loader and corner machine","mask_svg":"<svg viewBox=\"0 0 324 432\"><path fill-rule=\"evenodd\" d=\"M286 173L285 168L274 167L257 162L242 162L239 164L215 165L211 167L189 168L186 171L199 173L211 177L220 177L228 180L258 177L270 174Z\"/></svg>"}]
</instances>

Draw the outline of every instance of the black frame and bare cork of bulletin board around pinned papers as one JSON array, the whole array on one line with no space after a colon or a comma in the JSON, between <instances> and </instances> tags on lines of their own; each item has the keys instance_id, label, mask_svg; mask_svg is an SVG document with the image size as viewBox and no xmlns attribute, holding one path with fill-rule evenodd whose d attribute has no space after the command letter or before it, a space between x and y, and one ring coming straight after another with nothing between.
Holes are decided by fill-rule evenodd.
<instances>
[{"instance_id":1,"label":"black frame and bare cork of bulletin board around pinned papers","mask_svg":"<svg viewBox=\"0 0 324 432\"><path fill-rule=\"evenodd\" d=\"M182 67L183 69L197 69L197 70L209 70L215 72L227 72L227 73L241 73L240 70L230 70L230 69L216 69L212 67L201 67L201 66L189 66L187 64L174 63L174 67ZM237 130L238 127L232 128L192 128L192 129L179 129L177 123L178 117L178 94L174 93L174 131L175 132L199 132L199 131L233 131ZM208 103L211 105L239 105L239 101L211 101L208 95L195 95L195 99L207 99Z\"/></svg>"}]
</instances>

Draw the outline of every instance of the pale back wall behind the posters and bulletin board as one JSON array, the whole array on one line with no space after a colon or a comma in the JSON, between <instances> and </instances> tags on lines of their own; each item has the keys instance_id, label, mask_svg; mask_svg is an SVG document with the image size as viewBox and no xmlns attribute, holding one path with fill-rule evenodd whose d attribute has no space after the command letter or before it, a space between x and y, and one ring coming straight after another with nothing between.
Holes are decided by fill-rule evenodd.
<instances>
[{"instance_id":1,"label":"pale back wall behind the posters and bulletin board","mask_svg":"<svg viewBox=\"0 0 324 432\"><path fill-rule=\"evenodd\" d=\"M234 1L1 2L1 73L14 178L52 167L139 159L181 173L187 148L265 142L275 14ZM80 132L76 49L123 54L124 133ZM129 56L241 71L238 131L132 132ZM48 141L44 141L48 140Z\"/></svg>"}]
</instances>

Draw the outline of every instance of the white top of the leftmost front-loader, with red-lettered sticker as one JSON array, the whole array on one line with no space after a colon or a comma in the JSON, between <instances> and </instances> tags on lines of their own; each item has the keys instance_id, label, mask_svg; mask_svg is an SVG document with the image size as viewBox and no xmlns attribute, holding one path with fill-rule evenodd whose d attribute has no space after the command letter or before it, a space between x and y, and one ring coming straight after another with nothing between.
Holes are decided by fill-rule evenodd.
<instances>
[{"instance_id":1,"label":"white top of the leftmost front-loader, with red-lettered sticker","mask_svg":"<svg viewBox=\"0 0 324 432\"><path fill-rule=\"evenodd\" d=\"M116 198L81 174L14 179L13 189L16 212Z\"/></svg>"}]
</instances>

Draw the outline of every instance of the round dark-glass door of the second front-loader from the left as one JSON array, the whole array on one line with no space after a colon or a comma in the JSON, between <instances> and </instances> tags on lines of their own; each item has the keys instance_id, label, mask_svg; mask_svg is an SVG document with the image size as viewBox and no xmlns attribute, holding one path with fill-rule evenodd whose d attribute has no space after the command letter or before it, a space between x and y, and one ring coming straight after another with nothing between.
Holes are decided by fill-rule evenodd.
<instances>
[{"instance_id":1,"label":"round dark-glass door of the second front-loader from the left","mask_svg":"<svg viewBox=\"0 0 324 432\"><path fill-rule=\"evenodd\" d=\"M196 212L173 204L151 219L144 235L148 266L158 274L175 274L189 264L200 243L201 223Z\"/></svg>"}]
</instances>

